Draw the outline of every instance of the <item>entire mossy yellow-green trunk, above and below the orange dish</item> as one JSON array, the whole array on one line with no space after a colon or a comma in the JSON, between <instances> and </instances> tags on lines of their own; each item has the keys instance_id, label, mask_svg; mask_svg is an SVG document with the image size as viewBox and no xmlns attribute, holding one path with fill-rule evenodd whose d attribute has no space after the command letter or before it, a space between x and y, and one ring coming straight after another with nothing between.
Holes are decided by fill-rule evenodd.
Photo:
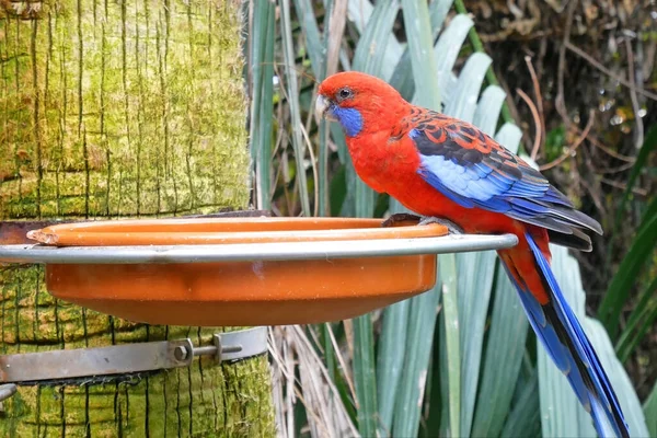
<instances>
[{"instance_id":1,"label":"entire mossy yellow-green trunk, above and below the orange dish","mask_svg":"<svg viewBox=\"0 0 657 438\"><path fill-rule=\"evenodd\" d=\"M153 217L247 204L241 4L0 2L0 220ZM191 337L57 301L0 268L0 351ZM44 366L47 366L44 364ZM93 384L21 387L2 436L269 436L266 358Z\"/></svg>"}]
</instances>

